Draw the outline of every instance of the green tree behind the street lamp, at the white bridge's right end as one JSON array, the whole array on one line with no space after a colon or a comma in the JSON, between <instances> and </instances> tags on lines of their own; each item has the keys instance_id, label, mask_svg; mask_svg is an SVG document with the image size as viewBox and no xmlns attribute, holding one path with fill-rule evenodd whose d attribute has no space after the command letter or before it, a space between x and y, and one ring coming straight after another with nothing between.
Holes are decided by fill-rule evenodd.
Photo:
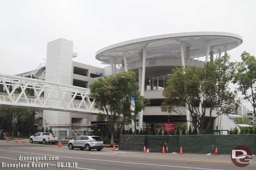
<instances>
[{"instance_id":1,"label":"green tree behind the street lamp, at the white bridge's right end","mask_svg":"<svg viewBox=\"0 0 256 170\"><path fill-rule=\"evenodd\" d=\"M124 124L130 124L134 119L130 109L134 87L128 80L120 78L121 76L130 79L133 84L138 84L136 74L129 71L121 72L116 76L104 76L104 79L99 78L91 84L90 88L90 97L94 99L95 103L94 108L103 112L99 113L99 118L108 123L111 145L114 144L114 135L121 131ZM141 96L138 89L137 87L136 111L140 112L144 110L145 104L149 104L149 100Z\"/></svg>"}]
</instances>

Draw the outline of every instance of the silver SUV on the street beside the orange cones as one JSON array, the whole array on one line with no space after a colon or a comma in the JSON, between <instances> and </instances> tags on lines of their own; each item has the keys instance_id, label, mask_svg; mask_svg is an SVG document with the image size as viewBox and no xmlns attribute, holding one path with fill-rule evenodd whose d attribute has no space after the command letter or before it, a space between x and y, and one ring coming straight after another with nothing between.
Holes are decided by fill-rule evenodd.
<instances>
[{"instance_id":1,"label":"silver SUV on the street beside the orange cones","mask_svg":"<svg viewBox=\"0 0 256 170\"><path fill-rule=\"evenodd\" d=\"M103 149L103 140L99 136L78 136L68 142L68 149L80 148L90 151L91 149L97 149L101 151Z\"/></svg>"}]
</instances>

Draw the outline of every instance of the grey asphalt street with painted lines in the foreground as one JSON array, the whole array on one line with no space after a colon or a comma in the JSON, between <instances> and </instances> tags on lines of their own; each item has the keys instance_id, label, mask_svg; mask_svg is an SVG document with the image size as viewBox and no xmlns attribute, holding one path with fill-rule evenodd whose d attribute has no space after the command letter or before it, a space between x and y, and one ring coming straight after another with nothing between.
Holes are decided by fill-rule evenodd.
<instances>
[{"instance_id":1,"label":"grey asphalt street with painted lines in the foreground","mask_svg":"<svg viewBox=\"0 0 256 170\"><path fill-rule=\"evenodd\" d=\"M32 160L24 160L24 157L31 157ZM21 158L23 160L19 160ZM42 160L45 158L46 160ZM15 143L13 140L9 142L0 140L0 162L0 169L16 169L3 167L7 164L26 164L29 166L29 168L18 167L17 169L256 169L256 157L253 157L253 162L250 165L237 167L232 163L230 155L143 153L112 151L111 148L104 148L101 151L69 150L67 145L57 147L57 145L22 143L21 141Z\"/></svg>"}]
</instances>

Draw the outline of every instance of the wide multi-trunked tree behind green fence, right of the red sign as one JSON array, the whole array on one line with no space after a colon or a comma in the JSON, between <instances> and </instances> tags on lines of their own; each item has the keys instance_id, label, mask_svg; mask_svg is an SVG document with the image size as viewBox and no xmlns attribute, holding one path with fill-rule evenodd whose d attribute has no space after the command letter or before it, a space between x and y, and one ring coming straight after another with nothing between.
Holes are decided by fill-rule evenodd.
<instances>
[{"instance_id":1,"label":"wide multi-trunked tree behind green fence, right of the red sign","mask_svg":"<svg viewBox=\"0 0 256 170\"><path fill-rule=\"evenodd\" d=\"M204 134L213 119L230 113L238 105L235 100L237 92L232 92L229 88L234 72L234 63L229 62L229 58L230 56L225 55L206 62L203 68L176 66L163 91L165 101L161 110L170 115L175 112L186 120L179 110L180 106L184 106L192 117L192 120L186 121L191 122L199 134ZM213 108L221 108L217 116L212 115ZM206 112L210 116L204 128Z\"/></svg>"}]
</instances>

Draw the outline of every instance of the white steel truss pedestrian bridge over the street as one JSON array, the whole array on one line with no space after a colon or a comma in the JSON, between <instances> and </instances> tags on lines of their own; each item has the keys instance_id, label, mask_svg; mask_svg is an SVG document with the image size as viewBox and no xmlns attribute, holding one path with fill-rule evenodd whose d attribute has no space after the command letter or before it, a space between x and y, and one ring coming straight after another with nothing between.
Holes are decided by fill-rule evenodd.
<instances>
[{"instance_id":1,"label":"white steel truss pedestrian bridge over the street","mask_svg":"<svg viewBox=\"0 0 256 170\"><path fill-rule=\"evenodd\" d=\"M101 112L93 107L88 88L5 74L0 74L0 84L4 88L4 93L0 93L0 106L86 114ZM26 95L25 90L30 89L35 96ZM16 90L21 91L20 94L15 94Z\"/></svg>"}]
</instances>

